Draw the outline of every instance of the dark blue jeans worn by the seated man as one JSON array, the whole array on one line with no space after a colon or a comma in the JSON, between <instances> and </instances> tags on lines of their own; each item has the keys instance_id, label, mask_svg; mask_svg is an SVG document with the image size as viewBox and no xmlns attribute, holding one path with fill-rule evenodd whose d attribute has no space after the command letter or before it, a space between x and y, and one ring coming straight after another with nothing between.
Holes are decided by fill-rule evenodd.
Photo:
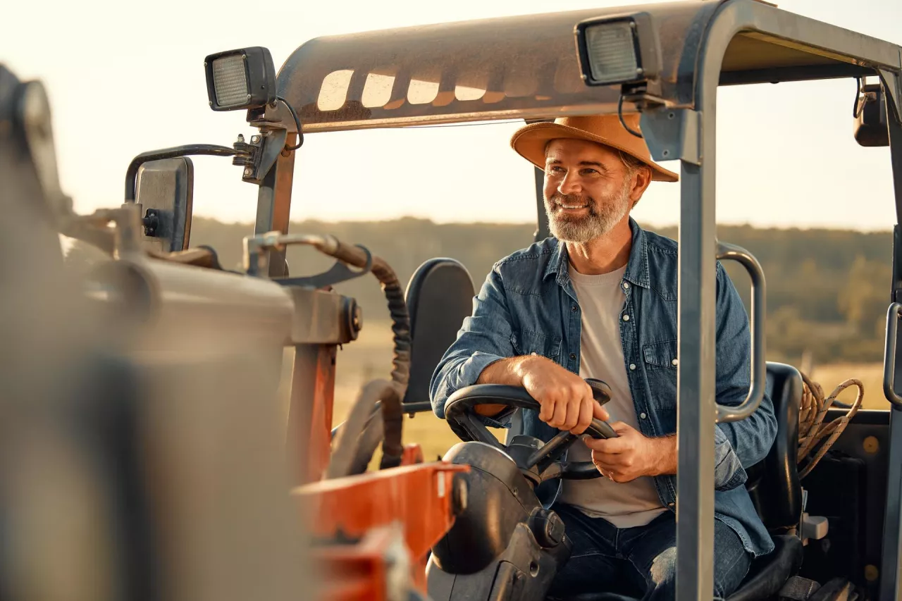
<instances>
[{"instance_id":1,"label":"dark blue jeans worn by the seated man","mask_svg":"<svg viewBox=\"0 0 902 601\"><path fill-rule=\"evenodd\" d=\"M573 552L557 572L548 596L613 592L643 601L670 601L676 584L676 518L661 513L648 525L618 529L575 507L553 509L566 525ZM736 532L714 520L714 597L731 595L746 577L751 555Z\"/></svg>"}]
</instances>

